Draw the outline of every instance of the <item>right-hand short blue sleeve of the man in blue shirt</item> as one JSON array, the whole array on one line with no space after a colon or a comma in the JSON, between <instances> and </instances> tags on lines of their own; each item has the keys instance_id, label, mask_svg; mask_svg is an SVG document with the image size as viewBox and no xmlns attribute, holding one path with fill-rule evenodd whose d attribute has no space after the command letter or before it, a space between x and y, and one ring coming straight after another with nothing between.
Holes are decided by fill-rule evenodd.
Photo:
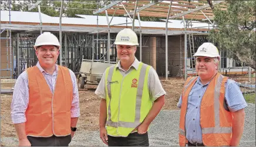
<instances>
[{"instance_id":1,"label":"right-hand short blue sleeve of the man in blue shirt","mask_svg":"<svg viewBox=\"0 0 256 147\"><path fill-rule=\"evenodd\" d=\"M234 80L228 79L226 83L225 99L227 100L227 105L231 112L247 107L244 96Z\"/></svg>"}]
</instances>

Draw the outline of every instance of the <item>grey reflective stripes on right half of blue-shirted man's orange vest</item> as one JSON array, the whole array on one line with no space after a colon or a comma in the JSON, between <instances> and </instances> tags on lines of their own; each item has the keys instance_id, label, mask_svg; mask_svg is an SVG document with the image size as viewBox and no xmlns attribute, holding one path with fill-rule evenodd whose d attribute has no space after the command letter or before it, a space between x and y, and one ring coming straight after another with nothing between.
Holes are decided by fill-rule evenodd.
<instances>
[{"instance_id":1,"label":"grey reflective stripes on right half of blue-shirted man's orange vest","mask_svg":"<svg viewBox=\"0 0 256 147\"><path fill-rule=\"evenodd\" d=\"M214 120L215 127L202 128L203 134L230 134L232 132L232 127L220 127L220 88L223 81L223 76L220 75L217 78L217 83L215 84L214 93Z\"/></svg>"}]
</instances>

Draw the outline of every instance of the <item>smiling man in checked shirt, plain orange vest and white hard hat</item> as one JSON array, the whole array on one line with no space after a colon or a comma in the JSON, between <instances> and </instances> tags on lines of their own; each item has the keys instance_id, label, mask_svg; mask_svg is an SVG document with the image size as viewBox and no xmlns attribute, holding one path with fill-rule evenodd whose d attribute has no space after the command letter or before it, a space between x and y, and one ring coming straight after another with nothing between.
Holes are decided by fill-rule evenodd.
<instances>
[{"instance_id":1,"label":"smiling man in checked shirt, plain orange vest and white hard hat","mask_svg":"<svg viewBox=\"0 0 256 147\"><path fill-rule=\"evenodd\" d=\"M75 134L80 116L76 76L56 64L59 47L52 33L38 36L38 63L16 80L11 117L19 146L68 146Z\"/></svg>"}]
</instances>

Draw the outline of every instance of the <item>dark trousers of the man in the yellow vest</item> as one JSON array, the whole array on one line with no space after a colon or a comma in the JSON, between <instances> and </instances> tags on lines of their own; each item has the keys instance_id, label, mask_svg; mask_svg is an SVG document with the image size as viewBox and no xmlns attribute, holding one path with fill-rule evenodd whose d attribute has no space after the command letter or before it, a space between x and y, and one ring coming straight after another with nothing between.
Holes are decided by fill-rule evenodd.
<instances>
[{"instance_id":1,"label":"dark trousers of the man in the yellow vest","mask_svg":"<svg viewBox=\"0 0 256 147\"><path fill-rule=\"evenodd\" d=\"M114 137L107 135L109 146L149 146L149 136L134 132L127 137Z\"/></svg>"}]
</instances>

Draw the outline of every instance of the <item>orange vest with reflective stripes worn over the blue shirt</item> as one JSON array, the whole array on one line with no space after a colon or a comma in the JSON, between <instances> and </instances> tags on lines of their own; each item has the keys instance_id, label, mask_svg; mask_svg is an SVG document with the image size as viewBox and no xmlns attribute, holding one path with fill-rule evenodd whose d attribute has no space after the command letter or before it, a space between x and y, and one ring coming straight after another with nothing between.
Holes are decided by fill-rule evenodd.
<instances>
[{"instance_id":1,"label":"orange vest with reflective stripes worn over the blue shirt","mask_svg":"<svg viewBox=\"0 0 256 147\"><path fill-rule=\"evenodd\" d=\"M189 77L184 84L182 93L182 104L180 111L180 146L186 146L186 113L188 105L188 94L196 83L198 77ZM225 83L228 77L217 73L210 81L206 92L201 100L200 125L202 139L205 146L228 146L232 136L231 112L224 108Z\"/></svg>"}]
</instances>

